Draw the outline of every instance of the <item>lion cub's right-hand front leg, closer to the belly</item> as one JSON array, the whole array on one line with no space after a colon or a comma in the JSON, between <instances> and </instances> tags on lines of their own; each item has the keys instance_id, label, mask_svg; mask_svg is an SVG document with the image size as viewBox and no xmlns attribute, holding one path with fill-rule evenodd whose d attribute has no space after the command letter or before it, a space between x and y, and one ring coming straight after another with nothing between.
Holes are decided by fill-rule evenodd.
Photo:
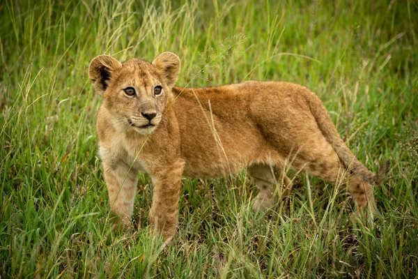
<instances>
[{"instance_id":1,"label":"lion cub's right-hand front leg, closer to the belly","mask_svg":"<svg viewBox=\"0 0 418 279\"><path fill-rule=\"evenodd\" d=\"M150 174L154 183L150 220L165 237L173 236L176 232L184 165L184 161L178 159L171 165L158 166L158 169Z\"/></svg>"}]
</instances>

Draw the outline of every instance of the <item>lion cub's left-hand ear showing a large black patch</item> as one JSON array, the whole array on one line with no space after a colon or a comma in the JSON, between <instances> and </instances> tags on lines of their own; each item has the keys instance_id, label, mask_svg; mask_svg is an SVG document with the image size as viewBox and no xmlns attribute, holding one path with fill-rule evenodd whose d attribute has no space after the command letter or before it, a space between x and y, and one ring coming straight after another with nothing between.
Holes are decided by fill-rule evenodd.
<instances>
[{"instance_id":1,"label":"lion cub's left-hand ear showing a large black patch","mask_svg":"<svg viewBox=\"0 0 418 279\"><path fill-rule=\"evenodd\" d=\"M107 81L115 70L122 68L122 63L110 55L102 54L90 62L88 76L93 82L93 87L100 95L107 89Z\"/></svg>"}]
</instances>

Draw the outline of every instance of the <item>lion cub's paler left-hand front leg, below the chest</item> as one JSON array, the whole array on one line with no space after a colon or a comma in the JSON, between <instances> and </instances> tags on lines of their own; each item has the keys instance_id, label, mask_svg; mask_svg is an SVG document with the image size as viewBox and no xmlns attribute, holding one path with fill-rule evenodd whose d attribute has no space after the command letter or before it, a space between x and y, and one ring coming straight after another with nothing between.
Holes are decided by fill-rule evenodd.
<instances>
[{"instance_id":1,"label":"lion cub's paler left-hand front leg, below the chest","mask_svg":"<svg viewBox=\"0 0 418 279\"><path fill-rule=\"evenodd\" d=\"M104 180L116 226L130 227L138 184L138 170L122 160L103 158Z\"/></svg>"}]
</instances>

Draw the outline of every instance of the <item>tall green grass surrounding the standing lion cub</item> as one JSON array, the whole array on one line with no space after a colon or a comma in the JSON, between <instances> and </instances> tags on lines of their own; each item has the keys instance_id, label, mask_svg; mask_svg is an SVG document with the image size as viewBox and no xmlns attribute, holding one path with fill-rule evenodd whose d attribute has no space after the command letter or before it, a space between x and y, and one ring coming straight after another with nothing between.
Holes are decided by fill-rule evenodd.
<instances>
[{"instance_id":1,"label":"tall green grass surrounding the standing lion cub","mask_svg":"<svg viewBox=\"0 0 418 279\"><path fill-rule=\"evenodd\" d=\"M1 278L417 278L417 3L254 2L0 3ZM184 179L167 247L149 232L141 174L138 231L111 232L88 62L163 51L182 59L181 86L284 80L318 93L364 165L392 163L374 227L350 222L344 189L304 174L279 218L253 213L242 172Z\"/></svg>"}]
</instances>

